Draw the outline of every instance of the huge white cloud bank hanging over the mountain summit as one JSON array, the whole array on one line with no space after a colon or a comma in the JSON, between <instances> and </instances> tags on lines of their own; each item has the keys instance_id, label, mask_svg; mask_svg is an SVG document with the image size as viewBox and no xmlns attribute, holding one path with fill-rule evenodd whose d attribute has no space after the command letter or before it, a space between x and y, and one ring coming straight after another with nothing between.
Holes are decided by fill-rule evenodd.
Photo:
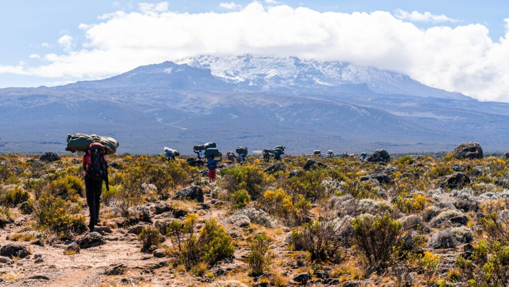
<instances>
[{"instance_id":1,"label":"huge white cloud bank hanging over the mountain summit","mask_svg":"<svg viewBox=\"0 0 509 287\"><path fill-rule=\"evenodd\" d=\"M476 99L509 102L509 33L493 41L481 24L422 29L384 11L321 13L259 2L231 13L151 7L90 25L81 50L41 55L47 64L39 67L0 66L0 73L97 79L196 54L295 55L374 66Z\"/></svg>"}]
</instances>

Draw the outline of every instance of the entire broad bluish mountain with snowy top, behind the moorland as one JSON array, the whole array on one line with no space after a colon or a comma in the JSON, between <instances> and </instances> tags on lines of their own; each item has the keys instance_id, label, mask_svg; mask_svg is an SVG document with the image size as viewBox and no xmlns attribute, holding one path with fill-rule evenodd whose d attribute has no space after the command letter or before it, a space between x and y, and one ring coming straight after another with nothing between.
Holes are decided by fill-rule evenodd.
<instances>
[{"instance_id":1,"label":"entire broad bluish mountain with snowy top, behind the moorland","mask_svg":"<svg viewBox=\"0 0 509 287\"><path fill-rule=\"evenodd\" d=\"M421 96L419 96L421 94ZM425 97L426 95L426 97ZM509 105L348 63L197 56L98 81L0 89L0 152L63 151L69 133L109 135L119 152L190 154L194 144L289 153L509 149Z\"/></svg>"}]
</instances>

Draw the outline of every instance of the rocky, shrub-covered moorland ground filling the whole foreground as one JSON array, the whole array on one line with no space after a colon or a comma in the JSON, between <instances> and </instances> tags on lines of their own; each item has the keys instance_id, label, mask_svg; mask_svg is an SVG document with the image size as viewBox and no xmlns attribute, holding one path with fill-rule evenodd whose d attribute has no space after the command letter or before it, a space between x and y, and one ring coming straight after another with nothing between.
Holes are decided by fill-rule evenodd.
<instances>
[{"instance_id":1,"label":"rocky, shrub-covered moorland ground filling the whole foreground","mask_svg":"<svg viewBox=\"0 0 509 287\"><path fill-rule=\"evenodd\" d=\"M439 158L249 157L209 184L184 160L118 155L89 233L77 157L3 155L0 285L507 286L507 158L475 143ZM194 253L176 241L190 218L187 243L211 222L219 236Z\"/></svg>"}]
</instances>

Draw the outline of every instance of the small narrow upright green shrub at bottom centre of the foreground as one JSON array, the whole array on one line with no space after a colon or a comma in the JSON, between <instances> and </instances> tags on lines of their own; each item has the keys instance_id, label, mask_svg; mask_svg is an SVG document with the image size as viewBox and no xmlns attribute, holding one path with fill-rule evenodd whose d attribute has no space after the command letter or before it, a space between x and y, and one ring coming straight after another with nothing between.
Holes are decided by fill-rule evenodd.
<instances>
[{"instance_id":1,"label":"small narrow upright green shrub at bottom centre of the foreground","mask_svg":"<svg viewBox=\"0 0 509 287\"><path fill-rule=\"evenodd\" d=\"M273 253L270 251L269 242L270 239L262 232L254 236L249 243L247 264L252 276L262 275L270 267Z\"/></svg>"}]
</instances>

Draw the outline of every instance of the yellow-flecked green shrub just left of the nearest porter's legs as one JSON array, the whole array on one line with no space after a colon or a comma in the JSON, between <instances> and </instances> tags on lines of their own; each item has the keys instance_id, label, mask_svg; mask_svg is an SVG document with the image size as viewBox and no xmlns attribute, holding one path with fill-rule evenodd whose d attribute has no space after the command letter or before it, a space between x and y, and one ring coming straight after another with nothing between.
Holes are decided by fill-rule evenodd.
<instances>
[{"instance_id":1,"label":"yellow-flecked green shrub just left of the nearest porter's legs","mask_svg":"<svg viewBox=\"0 0 509 287\"><path fill-rule=\"evenodd\" d=\"M76 202L46 193L36 202L34 216L41 228L48 229L64 239L86 229L85 218L80 211L81 206Z\"/></svg>"}]
</instances>

